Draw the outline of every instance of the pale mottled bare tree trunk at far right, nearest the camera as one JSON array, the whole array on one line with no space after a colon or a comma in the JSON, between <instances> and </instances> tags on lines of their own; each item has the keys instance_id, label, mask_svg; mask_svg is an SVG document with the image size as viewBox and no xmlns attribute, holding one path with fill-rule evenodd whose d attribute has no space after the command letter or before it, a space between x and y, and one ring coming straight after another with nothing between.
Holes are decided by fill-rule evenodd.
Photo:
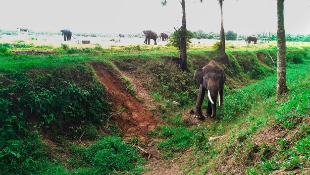
<instances>
[{"instance_id":1,"label":"pale mottled bare tree trunk at far right, nearest the camera","mask_svg":"<svg viewBox=\"0 0 310 175\"><path fill-rule=\"evenodd\" d=\"M284 0L277 0L278 16L278 61L277 61L277 100L288 92L286 86L286 63L285 63L285 29L284 29Z\"/></svg>"}]
</instances>

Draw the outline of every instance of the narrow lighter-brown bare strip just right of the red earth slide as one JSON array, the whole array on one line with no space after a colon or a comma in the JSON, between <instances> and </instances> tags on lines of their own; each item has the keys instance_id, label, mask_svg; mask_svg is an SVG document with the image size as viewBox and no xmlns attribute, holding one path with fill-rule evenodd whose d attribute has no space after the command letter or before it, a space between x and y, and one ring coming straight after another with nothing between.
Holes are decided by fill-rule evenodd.
<instances>
[{"instance_id":1,"label":"narrow lighter-brown bare strip just right of the red earth slide","mask_svg":"<svg viewBox=\"0 0 310 175\"><path fill-rule=\"evenodd\" d=\"M131 73L127 71L122 71L122 73L130 78L131 84L137 91L138 97L143 100L143 105L147 110L154 111L156 109L156 102L147 91L141 79L136 78Z\"/></svg>"}]
</instances>

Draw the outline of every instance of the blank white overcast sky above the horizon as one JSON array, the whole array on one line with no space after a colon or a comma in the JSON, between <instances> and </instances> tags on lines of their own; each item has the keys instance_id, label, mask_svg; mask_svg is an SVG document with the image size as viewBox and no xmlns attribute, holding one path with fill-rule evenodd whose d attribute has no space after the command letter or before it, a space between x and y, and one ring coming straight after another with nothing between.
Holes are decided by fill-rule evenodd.
<instances>
[{"instance_id":1,"label":"blank white overcast sky above the horizon","mask_svg":"<svg viewBox=\"0 0 310 175\"><path fill-rule=\"evenodd\" d=\"M1 0L0 29L27 27L34 31L103 34L157 33L180 27L182 7L179 0ZM220 31L217 0L186 0L187 29ZM286 33L310 34L310 0L285 0ZM225 31L257 34L277 30L276 0L224 0Z\"/></svg>"}]
</instances>

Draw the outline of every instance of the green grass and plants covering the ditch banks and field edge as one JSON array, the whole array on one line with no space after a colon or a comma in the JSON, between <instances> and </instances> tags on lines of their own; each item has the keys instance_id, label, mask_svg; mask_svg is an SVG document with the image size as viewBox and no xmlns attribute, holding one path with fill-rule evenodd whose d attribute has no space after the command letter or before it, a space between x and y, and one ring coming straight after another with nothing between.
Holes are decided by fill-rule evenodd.
<instances>
[{"instance_id":1,"label":"green grass and plants covering the ditch banks and field edge","mask_svg":"<svg viewBox=\"0 0 310 175\"><path fill-rule=\"evenodd\" d=\"M2 44L0 47L0 167L3 175L139 174L143 170L144 159L122 141L117 126L103 129L110 115L110 102L104 94L103 86L94 78L91 67L85 64L94 59L110 65L114 63L120 70L129 71L135 77L145 80L145 87L160 102L156 109L160 120L169 123L150 133L151 138L158 140L156 145L162 156L175 157L194 147L188 157L193 161L188 163L185 172L225 173L216 165L224 164L223 160L228 153L234 156L230 159L237 158L235 162L242 166L257 166L248 170L252 174L289 167L290 164L284 165L272 160L282 159L285 162L292 155L297 157L295 161L304 167L308 166L309 159L303 158L309 147L306 140L308 136L305 135L309 131L307 123L301 126L303 131L299 140L285 142L281 138L281 142L288 145L283 147L286 152L274 149L272 153L279 154L266 156L266 144L253 146L255 144L251 142L255 133L266 125L277 126L279 124L275 123L280 123L285 128L296 129L300 123L296 118L305 115L309 117L309 60L301 59L305 58L304 54L288 56L292 63L303 63L289 64L288 87L291 95L288 97L292 98L276 104L275 67L267 55L268 52L272 58L276 58L276 48L272 45L266 50L230 46L227 49L230 60L227 65L217 60L217 53L210 47L193 47L188 50L189 72L180 71L173 58L178 56L178 52L165 46L138 45L103 49L98 45L71 50L66 45L60 48L47 47L10 44ZM56 52L59 55L11 55L14 51L29 50L22 48ZM186 114L188 109L195 106L198 94L198 84L192 80L192 76L195 69L201 68L211 59L218 61L228 75L224 108L219 109L216 118L197 125L192 122L195 119L187 118ZM267 76L271 77L258 81ZM255 85L235 89L257 81ZM307 92L301 95L302 91ZM173 101L180 105L174 105ZM205 102L203 108L206 106ZM290 112L294 115L289 115ZM287 120L290 122L287 123ZM83 139L92 144L78 146L74 140L78 140L84 131ZM207 141L208 137L218 135L224 135L224 138ZM136 142L136 138L133 141ZM295 142L303 143L306 147L295 149L292 146ZM253 159L255 156L249 158L247 155L252 155L252 150L258 150L256 153L264 156L264 159L259 162ZM111 158L115 162L111 162ZM292 165L301 165L294 163Z\"/></svg>"}]
</instances>

